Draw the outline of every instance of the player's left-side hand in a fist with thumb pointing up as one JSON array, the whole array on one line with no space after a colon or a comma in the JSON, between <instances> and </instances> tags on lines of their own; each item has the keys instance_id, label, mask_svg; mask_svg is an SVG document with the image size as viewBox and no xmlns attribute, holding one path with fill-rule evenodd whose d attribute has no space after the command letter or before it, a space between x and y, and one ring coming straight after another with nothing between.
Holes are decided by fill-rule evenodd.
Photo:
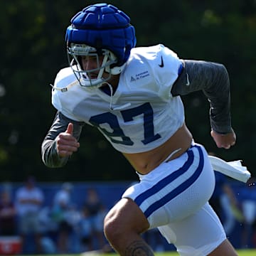
<instances>
[{"instance_id":1,"label":"player's left-side hand in a fist with thumb pointing up","mask_svg":"<svg viewBox=\"0 0 256 256\"><path fill-rule=\"evenodd\" d=\"M65 132L58 134L55 139L57 153L60 157L71 156L73 152L78 151L79 142L73 137L73 124L69 123Z\"/></svg>"}]
</instances>

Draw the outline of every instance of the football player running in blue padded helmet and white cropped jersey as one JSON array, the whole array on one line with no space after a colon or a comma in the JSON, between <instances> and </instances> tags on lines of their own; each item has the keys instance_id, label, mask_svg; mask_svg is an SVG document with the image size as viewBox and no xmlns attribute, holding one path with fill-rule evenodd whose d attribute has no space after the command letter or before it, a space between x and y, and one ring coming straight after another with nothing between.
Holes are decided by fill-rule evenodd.
<instances>
[{"instance_id":1,"label":"football player running in blue padded helmet and white cropped jersey","mask_svg":"<svg viewBox=\"0 0 256 256\"><path fill-rule=\"evenodd\" d=\"M105 218L106 238L119 255L154 255L141 234L156 227L180 255L237 255L208 204L213 168L204 147L193 142L181 101L202 90L211 136L218 147L233 146L225 66L182 60L162 44L135 47L129 16L110 4L75 14L65 41L70 65L53 85L57 113L43 140L44 164L64 166L80 146L82 126L90 124L140 180Z\"/></svg>"}]
</instances>

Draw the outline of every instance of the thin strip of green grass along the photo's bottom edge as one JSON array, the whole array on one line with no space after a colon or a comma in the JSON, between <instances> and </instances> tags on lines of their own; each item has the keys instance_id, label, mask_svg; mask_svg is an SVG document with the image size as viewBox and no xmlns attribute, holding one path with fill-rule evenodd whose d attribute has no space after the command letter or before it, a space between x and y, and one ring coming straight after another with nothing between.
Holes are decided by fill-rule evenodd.
<instances>
[{"instance_id":1,"label":"thin strip of green grass along the photo's bottom edge","mask_svg":"<svg viewBox=\"0 0 256 256\"><path fill-rule=\"evenodd\" d=\"M82 254L76 254L76 255L47 255L47 256L117 256L117 254L114 253L106 253L106 254L97 254L97 253L82 253ZM255 256L256 250L238 250L239 256ZM26 255L20 255L20 256L26 256ZM33 255L29 255L33 256ZM46 256L46 255L35 255L35 256ZM159 252L156 253L155 256L178 256L177 252Z\"/></svg>"}]
</instances>

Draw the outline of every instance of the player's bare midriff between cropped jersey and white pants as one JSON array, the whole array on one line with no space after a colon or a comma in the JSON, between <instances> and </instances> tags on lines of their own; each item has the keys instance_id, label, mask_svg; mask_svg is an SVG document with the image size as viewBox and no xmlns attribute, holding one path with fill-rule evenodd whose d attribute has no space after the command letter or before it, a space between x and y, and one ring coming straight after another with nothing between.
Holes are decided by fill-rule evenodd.
<instances>
[{"instance_id":1,"label":"player's bare midriff between cropped jersey and white pants","mask_svg":"<svg viewBox=\"0 0 256 256\"><path fill-rule=\"evenodd\" d=\"M191 146L191 142L191 132L189 132L186 124L183 124L182 127L161 146L146 152L123 154L136 171L140 174L148 174L163 161L170 161L181 156Z\"/></svg>"}]
</instances>

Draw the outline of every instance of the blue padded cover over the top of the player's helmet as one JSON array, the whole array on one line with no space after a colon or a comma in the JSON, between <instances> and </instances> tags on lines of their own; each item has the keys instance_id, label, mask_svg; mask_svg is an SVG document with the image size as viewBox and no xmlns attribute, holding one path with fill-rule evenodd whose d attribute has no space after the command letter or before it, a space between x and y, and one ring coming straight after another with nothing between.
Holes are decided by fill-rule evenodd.
<instances>
[{"instance_id":1,"label":"blue padded cover over the top of the player's helmet","mask_svg":"<svg viewBox=\"0 0 256 256\"><path fill-rule=\"evenodd\" d=\"M117 56L117 66L127 62L136 45L134 26L123 11L111 4L94 4L78 12L65 36L70 43L84 43L98 50L107 49Z\"/></svg>"}]
</instances>

